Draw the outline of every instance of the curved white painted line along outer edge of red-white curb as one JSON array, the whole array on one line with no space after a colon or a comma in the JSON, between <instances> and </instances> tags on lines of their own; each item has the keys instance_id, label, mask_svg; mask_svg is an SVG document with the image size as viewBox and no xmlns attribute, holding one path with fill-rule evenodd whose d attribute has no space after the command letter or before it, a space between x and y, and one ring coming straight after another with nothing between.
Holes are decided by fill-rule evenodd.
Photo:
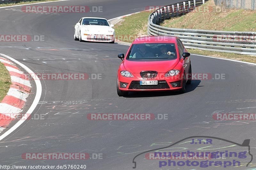
<instances>
[{"instance_id":1,"label":"curved white painted line along outer edge of red-white curb","mask_svg":"<svg viewBox=\"0 0 256 170\"><path fill-rule=\"evenodd\" d=\"M41 94L42 94L41 82L40 82L39 78L36 76L36 74L32 70L30 70L27 66L25 66L24 64L20 63L19 61L15 60L14 58L12 58L12 57L10 57L8 55L2 54L2 53L0 53L0 55L2 55L3 57L6 57L6 58L12 60L14 63L16 63L18 65L20 65L29 74L34 74L35 75L36 78L34 79L34 77L33 77L33 79L34 79L34 81L36 83L36 96L35 96L35 99L34 99L32 105L29 107L29 109L28 109L28 111L26 113L26 115L30 115L35 110L35 108L36 108L36 106L37 106L37 104L38 104L38 102L39 102L39 100L41 98ZM26 115L24 115L24 116L26 116ZM26 116L26 117L28 117L28 116ZM26 118L26 117L24 117L24 118ZM15 129L17 129L25 121L26 120L23 120L23 119L19 120L15 125L13 125L9 130L7 130L4 134L2 134L0 136L0 141L3 140L8 135L10 135Z\"/></svg>"}]
</instances>

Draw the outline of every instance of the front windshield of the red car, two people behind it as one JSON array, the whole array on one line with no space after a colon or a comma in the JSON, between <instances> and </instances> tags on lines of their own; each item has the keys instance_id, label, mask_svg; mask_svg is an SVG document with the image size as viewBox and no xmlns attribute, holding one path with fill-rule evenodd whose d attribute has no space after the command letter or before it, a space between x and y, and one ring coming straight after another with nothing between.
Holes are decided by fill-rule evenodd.
<instances>
[{"instance_id":1,"label":"front windshield of the red car, two people behind it","mask_svg":"<svg viewBox=\"0 0 256 170\"><path fill-rule=\"evenodd\" d=\"M133 44L127 60L174 60L177 58L174 43Z\"/></svg>"}]
</instances>

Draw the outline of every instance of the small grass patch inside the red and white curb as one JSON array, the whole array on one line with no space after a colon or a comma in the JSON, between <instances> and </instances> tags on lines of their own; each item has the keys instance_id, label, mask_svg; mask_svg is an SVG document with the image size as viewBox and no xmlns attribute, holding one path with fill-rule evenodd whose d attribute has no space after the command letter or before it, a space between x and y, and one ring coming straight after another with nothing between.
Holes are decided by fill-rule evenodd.
<instances>
[{"instance_id":1,"label":"small grass patch inside the red and white curb","mask_svg":"<svg viewBox=\"0 0 256 170\"><path fill-rule=\"evenodd\" d=\"M0 102L4 99L11 84L11 77L8 70L6 70L3 63L0 63Z\"/></svg>"}]
</instances>

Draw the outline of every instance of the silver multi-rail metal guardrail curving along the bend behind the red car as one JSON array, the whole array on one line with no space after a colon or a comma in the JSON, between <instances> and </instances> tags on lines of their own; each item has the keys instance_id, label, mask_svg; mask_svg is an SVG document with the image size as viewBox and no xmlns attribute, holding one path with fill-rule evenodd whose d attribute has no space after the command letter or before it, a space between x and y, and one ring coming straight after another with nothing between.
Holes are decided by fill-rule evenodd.
<instances>
[{"instance_id":1,"label":"silver multi-rail metal guardrail curving along the bend behind the red car","mask_svg":"<svg viewBox=\"0 0 256 170\"><path fill-rule=\"evenodd\" d=\"M149 35L178 36L186 48L256 55L256 32L179 29L159 26L165 19L184 15L208 0L184 1L166 5L148 17Z\"/></svg>"}]
</instances>

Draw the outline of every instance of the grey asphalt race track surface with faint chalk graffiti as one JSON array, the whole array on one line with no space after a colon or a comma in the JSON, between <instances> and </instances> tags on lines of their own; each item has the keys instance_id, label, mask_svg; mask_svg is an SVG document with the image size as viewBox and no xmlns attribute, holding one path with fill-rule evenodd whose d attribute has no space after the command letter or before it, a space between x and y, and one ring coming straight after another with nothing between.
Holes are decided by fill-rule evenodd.
<instances>
[{"instance_id":1,"label":"grey asphalt race track surface with faint chalk graffiti","mask_svg":"<svg viewBox=\"0 0 256 170\"><path fill-rule=\"evenodd\" d=\"M172 1L174 2L174 1ZM212 136L243 143L250 139L256 155L254 121L215 121L212 113L255 113L256 67L202 56L191 56L193 73L224 73L225 80L193 80L187 92L131 93L118 97L117 55L129 46L74 41L74 25L85 16L107 19L142 11L168 0L71 0L45 5L102 6L103 12L36 14L0 9L0 33L45 35L44 42L0 42L0 52L28 66L35 73L101 74L102 79L43 80L42 96L34 113L44 120L28 120L0 143L1 165L86 165L93 170L132 169L132 159L189 136ZM179 1L176 1L179 2ZM8 9L8 10L6 10ZM18 10L17 10L18 9ZM33 101L35 84L27 107ZM88 113L168 114L168 120L92 121ZM15 122L12 122L13 125ZM8 128L6 129L8 130ZM0 134L2 135L4 131ZM231 144L229 144L231 145ZM236 147L236 146L234 146ZM177 148L177 147L176 147ZM239 150L239 147L236 147ZM103 153L103 159L26 160L22 153ZM161 169L157 162L136 158L136 169ZM256 158L252 164L256 163ZM158 167L158 168L157 168ZM230 167L232 169L233 167ZM234 169L249 169L237 167ZM255 168L255 167L254 167ZM168 169L165 167L163 169ZM171 169L171 168L170 168ZM176 167L172 167L176 169ZM180 169L198 169L181 167ZM210 167L207 169L219 169ZM227 168L226 168L227 169Z\"/></svg>"}]
</instances>

